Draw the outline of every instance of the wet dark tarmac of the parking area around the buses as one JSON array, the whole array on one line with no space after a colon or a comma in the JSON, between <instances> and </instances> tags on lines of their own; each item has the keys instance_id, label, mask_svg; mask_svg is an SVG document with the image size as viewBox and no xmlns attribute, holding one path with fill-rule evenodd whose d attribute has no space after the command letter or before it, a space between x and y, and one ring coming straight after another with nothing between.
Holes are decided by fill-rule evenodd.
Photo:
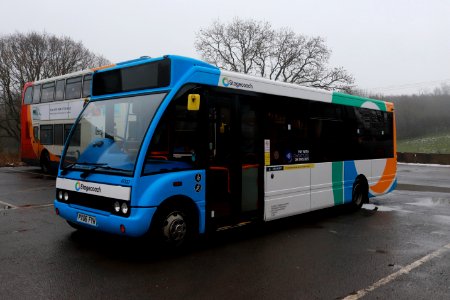
<instances>
[{"instance_id":1,"label":"wet dark tarmac of the parking area around the buses","mask_svg":"<svg viewBox=\"0 0 450 300\"><path fill-rule=\"evenodd\" d=\"M450 168L398 174L356 213L228 230L173 254L75 231L54 214L54 177L2 168L0 299L450 299Z\"/></svg>"}]
</instances>

